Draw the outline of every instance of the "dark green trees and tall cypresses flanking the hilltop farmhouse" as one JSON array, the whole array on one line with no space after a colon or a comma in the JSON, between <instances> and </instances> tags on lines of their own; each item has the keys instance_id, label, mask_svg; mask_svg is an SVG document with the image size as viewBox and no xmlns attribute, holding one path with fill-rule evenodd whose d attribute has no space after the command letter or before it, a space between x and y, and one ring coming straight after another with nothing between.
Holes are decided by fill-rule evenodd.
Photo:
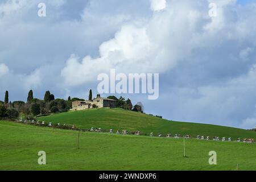
<instances>
[{"instance_id":1,"label":"dark green trees and tall cypresses flanking the hilltop farmhouse","mask_svg":"<svg viewBox=\"0 0 256 182\"><path fill-rule=\"evenodd\" d=\"M97 97L100 97L100 94L97 94ZM133 110L142 112L144 107L141 102L138 102L136 105L133 106L131 100L124 97L115 97L109 96L109 99L113 99L117 101L117 107L126 109L126 110ZM92 90L89 90L89 101L92 101ZM44 94L44 99L40 100L38 98L34 98L33 91L30 90L27 96L27 102L24 101L14 101L9 102L9 92L5 92L5 100L0 101L0 119L1 118L9 118L9 119L16 119L21 114L23 114L26 118L34 118L38 117L39 115L47 115L52 113L63 113L67 112L69 109L72 109L72 102L73 101L85 101L81 98L71 98L68 97L67 100L57 98L55 99L54 94L46 91Z\"/></svg>"}]
</instances>

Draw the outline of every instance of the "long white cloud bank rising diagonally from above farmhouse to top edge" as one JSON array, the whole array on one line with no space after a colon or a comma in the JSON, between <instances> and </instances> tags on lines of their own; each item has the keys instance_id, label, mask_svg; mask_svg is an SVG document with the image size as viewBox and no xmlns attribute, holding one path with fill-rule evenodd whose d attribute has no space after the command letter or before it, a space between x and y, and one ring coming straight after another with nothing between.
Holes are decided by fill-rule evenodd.
<instances>
[{"instance_id":1,"label":"long white cloud bank rising diagonally from above farmhouse to top edge","mask_svg":"<svg viewBox=\"0 0 256 182\"><path fill-rule=\"evenodd\" d=\"M229 3L220 5L221 11ZM81 63L77 58L67 61L61 71L65 84L74 86L89 79L95 81L99 73L108 73L110 68L123 73L164 73L179 61L189 60L193 49L214 48L218 44L214 35L219 34L225 40L228 33L222 30L231 31L234 24L225 27L228 20L224 13L213 23L203 7L208 10L208 3L201 1L195 6L191 1L172 1L166 11L154 13L150 19L124 23L113 39L101 44L99 57L86 56ZM222 22L221 27L216 27L218 22Z\"/></svg>"}]
</instances>

